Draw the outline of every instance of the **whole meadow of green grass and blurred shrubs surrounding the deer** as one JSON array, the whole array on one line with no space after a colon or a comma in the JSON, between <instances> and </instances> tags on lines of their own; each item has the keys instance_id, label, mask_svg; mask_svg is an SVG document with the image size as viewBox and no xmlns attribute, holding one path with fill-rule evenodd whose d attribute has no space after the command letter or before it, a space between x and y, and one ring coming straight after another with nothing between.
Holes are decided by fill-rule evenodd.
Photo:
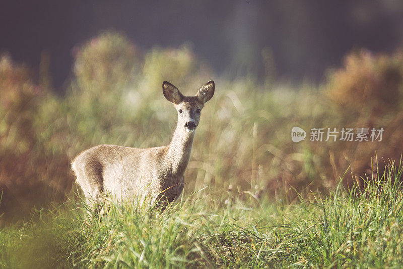
<instances>
[{"instance_id":1,"label":"whole meadow of green grass and blurred shrubs surrounding the deer","mask_svg":"<svg viewBox=\"0 0 403 269\"><path fill-rule=\"evenodd\" d=\"M63 94L0 59L3 267L382 267L402 262L403 55L352 51L320 85L214 74L189 45L142 51L122 33L78 44ZM169 144L167 80L213 79L179 203L113 204L85 219L71 160L97 144ZM294 143L291 129L307 131ZM384 128L382 141L309 141L311 128Z\"/></svg>"}]
</instances>

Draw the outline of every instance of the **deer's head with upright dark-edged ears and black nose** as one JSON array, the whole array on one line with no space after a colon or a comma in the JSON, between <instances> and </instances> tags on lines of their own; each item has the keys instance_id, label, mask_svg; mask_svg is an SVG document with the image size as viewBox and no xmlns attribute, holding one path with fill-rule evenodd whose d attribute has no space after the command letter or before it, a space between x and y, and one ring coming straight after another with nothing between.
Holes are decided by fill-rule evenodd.
<instances>
[{"instance_id":1,"label":"deer's head with upright dark-edged ears and black nose","mask_svg":"<svg viewBox=\"0 0 403 269\"><path fill-rule=\"evenodd\" d=\"M203 85L195 96L184 96L167 81L162 83L162 92L165 98L175 105L178 112L178 124L183 126L186 132L191 133L200 121L200 111L205 103L213 97L214 81L211 80Z\"/></svg>"}]
</instances>

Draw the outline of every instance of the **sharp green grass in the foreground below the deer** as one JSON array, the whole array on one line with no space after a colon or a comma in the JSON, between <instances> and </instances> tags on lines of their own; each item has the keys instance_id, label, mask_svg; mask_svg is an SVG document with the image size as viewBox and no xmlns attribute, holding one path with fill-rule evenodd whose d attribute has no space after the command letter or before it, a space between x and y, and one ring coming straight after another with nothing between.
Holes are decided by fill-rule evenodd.
<instances>
[{"instance_id":1,"label":"sharp green grass in the foreground below the deer","mask_svg":"<svg viewBox=\"0 0 403 269\"><path fill-rule=\"evenodd\" d=\"M364 189L320 199L196 195L167 210L111 204L85 218L79 202L39 210L0 232L0 266L394 267L403 261L401 166ZM207 190L201 190L206 192Z\"/></svg>"}]
</instances>

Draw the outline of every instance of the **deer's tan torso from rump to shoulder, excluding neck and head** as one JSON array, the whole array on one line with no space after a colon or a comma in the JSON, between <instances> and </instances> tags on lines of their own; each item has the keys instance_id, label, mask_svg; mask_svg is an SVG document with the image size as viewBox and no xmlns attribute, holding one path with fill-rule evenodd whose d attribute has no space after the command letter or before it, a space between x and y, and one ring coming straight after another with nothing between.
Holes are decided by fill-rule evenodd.
<instances>
[{"instance_id":1,"label":"deer's tan torso from rump to shoulder, excluding neck and head","mask_svg":"<svg viewBox=\"0 0 403 269\"><path fill-rule=\"evenodd\" d=\"M73 162L77 182L84 191L98 188L117 200L159 193L163 188L161 175L167 147L92 147Z\"/></svg>"}]
</instances>

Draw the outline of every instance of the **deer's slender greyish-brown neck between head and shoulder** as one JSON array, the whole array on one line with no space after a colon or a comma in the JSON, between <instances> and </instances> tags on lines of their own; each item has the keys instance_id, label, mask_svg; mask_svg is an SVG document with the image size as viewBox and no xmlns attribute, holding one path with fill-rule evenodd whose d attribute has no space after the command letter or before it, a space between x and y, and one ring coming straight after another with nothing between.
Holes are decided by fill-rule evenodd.
<instances>
[{"instance_id":1,"label":"deer's slender greyish-brown neck between head and shoulder","mask_svg":"<svg viewBox=\"0 0 403 269\"><path fill-rule=\"evenodd\" d=\"M188 133L183 126L177 124L165 157L165 164L173 174L183 174L189 162L192 150L194 131Z\"/></svg>"}]
</instances>

